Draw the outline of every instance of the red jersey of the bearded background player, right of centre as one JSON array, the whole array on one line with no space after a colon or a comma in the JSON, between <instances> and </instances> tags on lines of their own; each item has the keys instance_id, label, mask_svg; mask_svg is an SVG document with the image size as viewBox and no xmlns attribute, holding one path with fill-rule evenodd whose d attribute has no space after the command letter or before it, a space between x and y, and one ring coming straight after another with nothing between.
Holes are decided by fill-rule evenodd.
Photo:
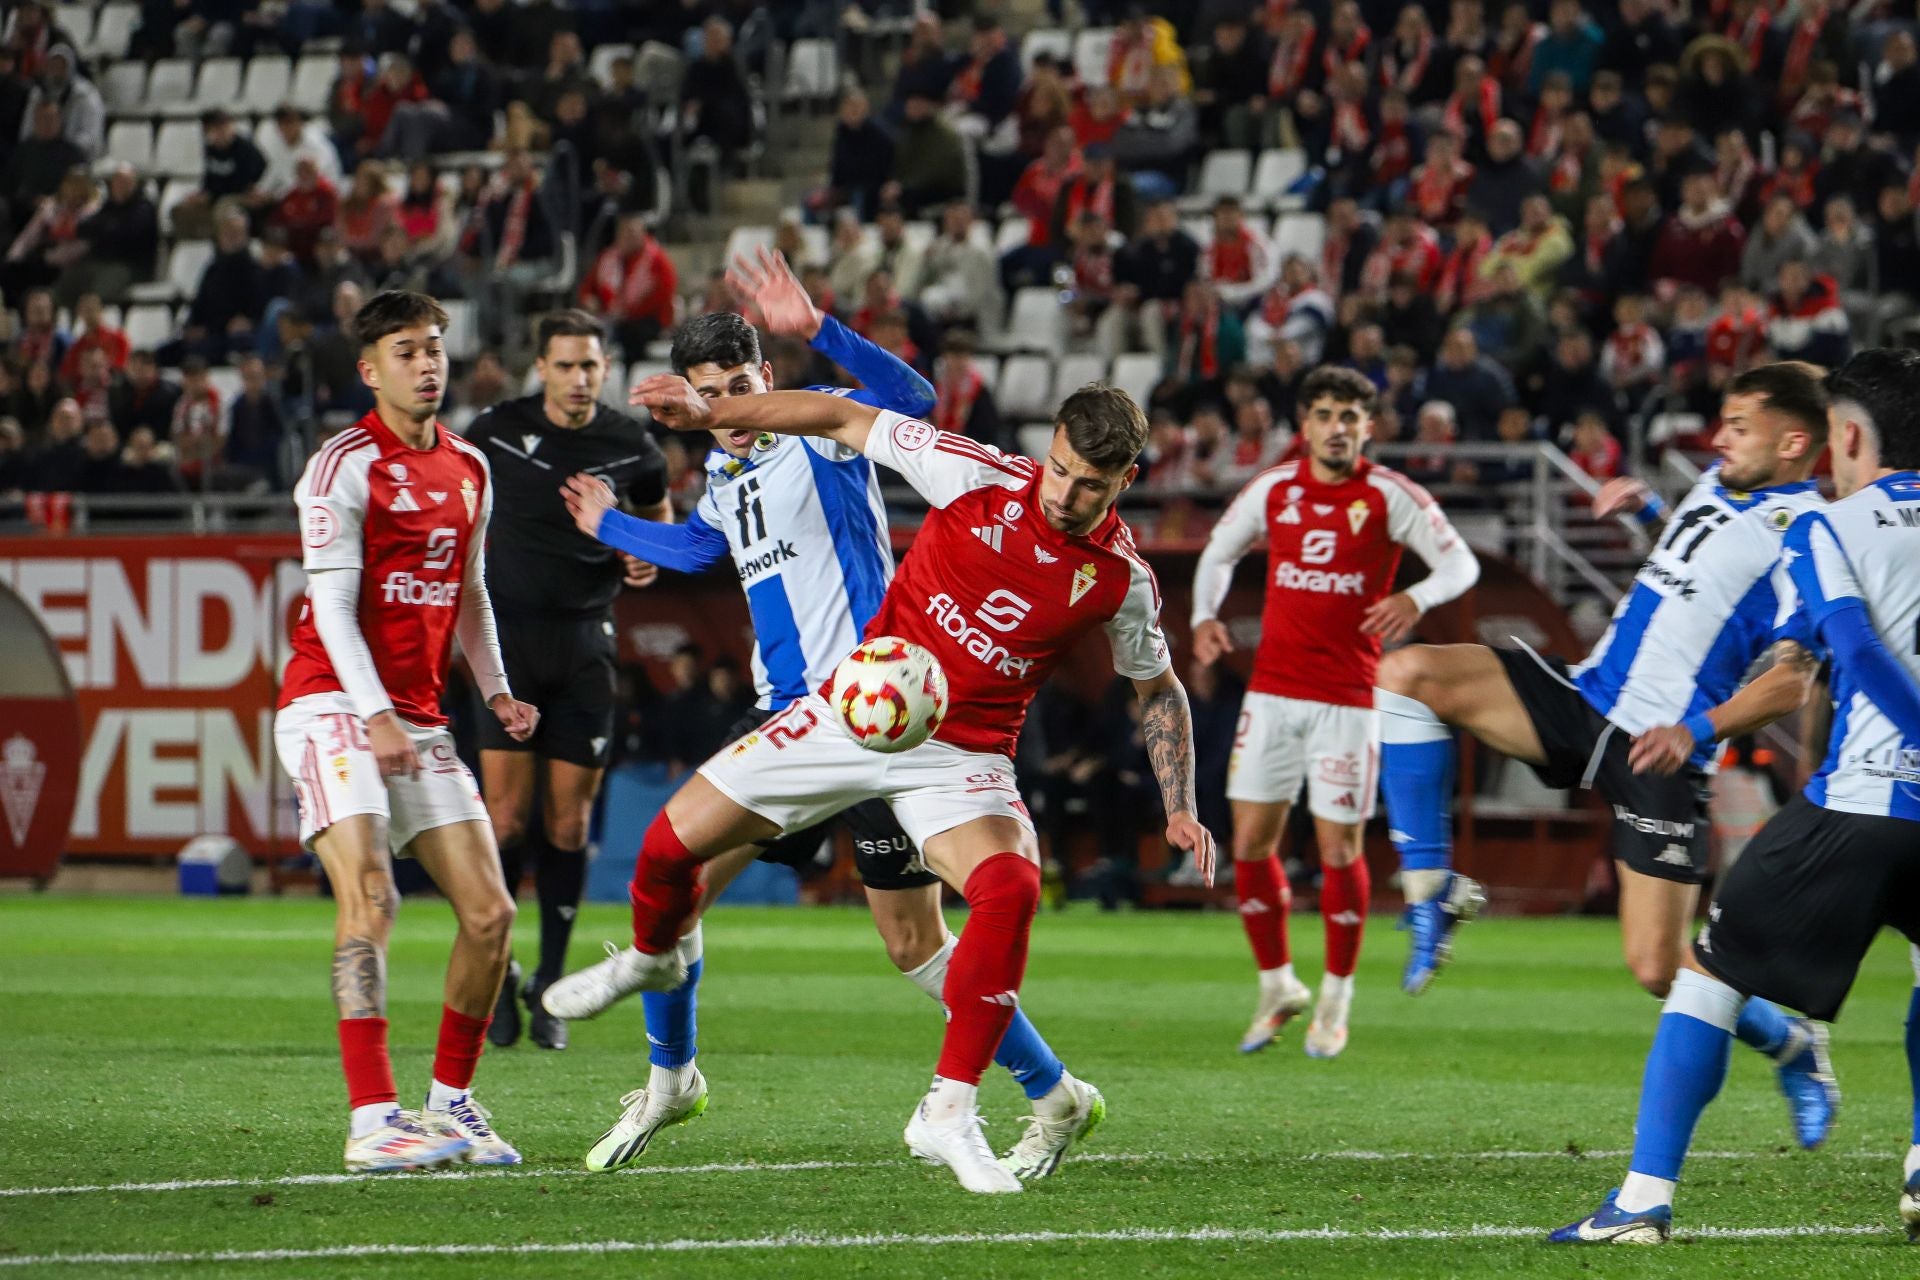
<instances>
[{"instance_id":1,"label":"red jersey of the bearded background player, right of centre","mask_svg":"<svg viewBox=\"0 0 1920 1280\"><path fill-rule=\"evenodd\" d=\"M1260 618L1252 693L1332 706L1373 706L1380 639L1361 618L1394 589L1402 547L1430 570L1407 589L1421 610L1480 578L1480 564L1432 495L1400 472L1361 459L1338 484L1306 461L1254 476L1213 526L1194 570L1194 626L1219 614L1233 566L1267 543L1267 603Z\"/></svg>"}]
</instances>

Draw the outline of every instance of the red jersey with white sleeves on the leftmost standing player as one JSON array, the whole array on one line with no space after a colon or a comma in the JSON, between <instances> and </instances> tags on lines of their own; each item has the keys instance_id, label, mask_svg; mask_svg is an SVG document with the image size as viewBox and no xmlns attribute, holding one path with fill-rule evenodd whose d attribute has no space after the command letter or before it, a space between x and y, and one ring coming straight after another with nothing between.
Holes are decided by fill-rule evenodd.
<instances>
[{"instance_id":1,"label":"red jersey with white sleeves on the leftmost standing player","mask_svg":"<svg viewBox=\"0 0 1920 1280\"><path fill-rule=\"evenodd\" d=\"M294 487L301 564L309 574L359 570L361 635L394 710L417 725L447 720L440 693L461 583L493 507L486 457L440 424L434 432L432 449L415 449L369 413L315 453ZM342 687L311 601L292 649L280 706Z\"/></svg>"}]
</instances>

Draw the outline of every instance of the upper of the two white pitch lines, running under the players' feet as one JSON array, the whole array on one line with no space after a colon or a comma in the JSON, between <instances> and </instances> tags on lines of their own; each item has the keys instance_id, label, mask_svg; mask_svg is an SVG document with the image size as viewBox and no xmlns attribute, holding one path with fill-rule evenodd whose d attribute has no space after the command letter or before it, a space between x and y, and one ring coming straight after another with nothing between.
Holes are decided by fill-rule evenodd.
<instances>
[{"instance_id":1,"label":"upper of the two white pitch lines, running under the players' feet","mask_svg":"<svg viewBox=\"0 0 1920 1280\"><path fill-rule=\"evenodd\" d=\"M1273 1161L1528 1161L1528 1159L1626 1159L1630 1150L1607 1151L1302 1151L1298 1155L1269 1153ZM1801 1155L1799 1151L1690 1151L1688 1159L1778 1159ZM1139 1165L1158 1161L1217 1163L1225 1157L1208 1153L1167 1155L1158 1151L1089 1151L1069 1155L1069 1165ZM1820 1159L1870 1159L1893 1163L1897 1155L1882 1151L1828 1151ZM733 1165L636 1165L614 1174L591 1176L674 1176L674 1174L716 1174L716 1173L814 1173L820 1169L900 1169L904 1161L843 1161L806 1159L789 1163L745 1161ZM301 1173L282 1178L175 1178L169 1182L84 1182L63 1186L0 1186L0 1199L19 1196L100 1196L100 1194L138 1194L138 1192L219 1192L267 1186L342 1186L351 1182L488 1182L505 1178L582 1178L586 1169L442 1169L436 1173Z\"/></svg>"}]
</instances>

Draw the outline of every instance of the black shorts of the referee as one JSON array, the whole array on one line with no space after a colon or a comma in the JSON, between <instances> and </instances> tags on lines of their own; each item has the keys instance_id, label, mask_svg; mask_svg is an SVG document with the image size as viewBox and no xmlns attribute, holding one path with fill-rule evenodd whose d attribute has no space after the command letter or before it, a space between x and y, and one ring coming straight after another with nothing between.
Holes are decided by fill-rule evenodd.
<instances>
[{"instance_id":1,"label":"black shorts of the referee","mask_svg":"<svg viewBox=\"0 0 1920 1280\"><path fill-rule=\"evenodd\" d=\"M584 770L605 770L612 748L612 618L493 614L513 697L540 712L534 737L515 743L480 708L480 750L532 750Z\"/></svg>"}]
</instances>

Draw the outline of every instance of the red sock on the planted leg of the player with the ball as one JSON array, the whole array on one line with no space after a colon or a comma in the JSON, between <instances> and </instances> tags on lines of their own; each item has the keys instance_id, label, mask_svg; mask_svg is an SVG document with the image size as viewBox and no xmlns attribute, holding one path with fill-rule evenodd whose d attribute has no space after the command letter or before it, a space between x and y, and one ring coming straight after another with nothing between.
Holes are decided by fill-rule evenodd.
<instances>
[{"instance_id":1,"label":"red sock on the planted leg of the player with the ball","mask_svg":"<svg viewBox=\"0 0 1920 1280\"><path fill-rule=\"evenodd\" d=\"M1020 1007L1027 935L1041 908L1041 869L1020 854L995 854L966 881L972 912L947 963L947 1038L939 1075L979 1084Z\"/></svg>"}]
</instances>

